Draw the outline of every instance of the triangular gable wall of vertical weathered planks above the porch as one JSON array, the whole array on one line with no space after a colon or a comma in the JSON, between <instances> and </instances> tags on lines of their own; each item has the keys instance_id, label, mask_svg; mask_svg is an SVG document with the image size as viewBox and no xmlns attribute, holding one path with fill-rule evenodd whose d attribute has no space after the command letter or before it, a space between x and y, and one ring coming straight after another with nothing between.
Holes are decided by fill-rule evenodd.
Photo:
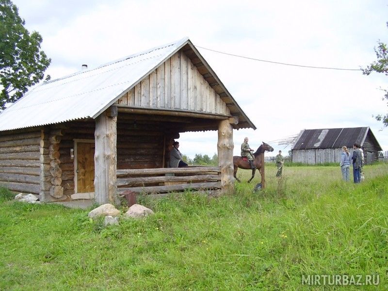
<instances>
[{"instance_id":1,"label":"triangular gable wall of vertical weathered planks above the porch","mask_svg":"<svg viewBox=\"0 0 388 291\"><path fill-rule=\"evenodd\" d=\"M190 59L178 51L118 100L129 107L230 114Z\"/></svg>"}]
</instances>

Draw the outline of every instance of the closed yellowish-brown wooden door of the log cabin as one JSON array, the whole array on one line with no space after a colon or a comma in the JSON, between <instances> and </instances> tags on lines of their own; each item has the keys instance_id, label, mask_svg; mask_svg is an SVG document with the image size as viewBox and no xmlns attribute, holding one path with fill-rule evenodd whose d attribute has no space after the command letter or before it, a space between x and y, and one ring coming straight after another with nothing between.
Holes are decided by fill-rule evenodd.
<instances>
[{"instance_id":1,"label":"closed yellowish-brown wooden door of the log cabin","mask_svg":"<svg viewBox=\"0 0 388 291\"><path fill-rule=\"evenodd\" d=\"M77 193L94 192L94 143L77 143Z\"/></svg>"}]
</instances>

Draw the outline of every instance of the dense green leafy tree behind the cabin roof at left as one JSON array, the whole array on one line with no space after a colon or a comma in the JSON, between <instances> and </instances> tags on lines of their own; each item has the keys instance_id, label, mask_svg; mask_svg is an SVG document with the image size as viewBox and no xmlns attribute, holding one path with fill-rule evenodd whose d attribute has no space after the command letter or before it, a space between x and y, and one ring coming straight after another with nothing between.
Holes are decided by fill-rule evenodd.
<instances>
[{"instance_id":1,"label":"dense green leafy tree behind the cabin roof at left","mask_svg":"<svg viewBox=\"0 0 388 291\"><path fill-rule=\"evenodd\" d=\"M27 92L28 87L44 77L50 65L45 52L40 49L42 36L28 32L15 4L0 0L0 107L15 102ZM46 80L49 80L47 76Z\"/></svg>"}]
</instances>

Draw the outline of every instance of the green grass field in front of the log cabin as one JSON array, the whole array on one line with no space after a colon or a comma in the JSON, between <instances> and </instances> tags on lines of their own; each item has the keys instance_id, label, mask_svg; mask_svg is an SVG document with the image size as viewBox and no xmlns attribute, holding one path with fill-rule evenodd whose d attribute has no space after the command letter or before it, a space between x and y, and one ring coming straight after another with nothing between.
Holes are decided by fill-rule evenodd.
<instances>
[{"instance_id":1,"label":"green grass field in front of the log cabin","mask_svg":"<svg viewBox=\"0 0 388 291\"><path fill-rule=\"evenodd\" d=\"M388 165L364 168L355 185L339 166L286 167L278 189L268 165L259 193L239 170L232 196L144 197L155 215L106 228L2 189L0 290L388 290ZM380 280L308 286L302 275Z\"/></svg>"}]
</instances>

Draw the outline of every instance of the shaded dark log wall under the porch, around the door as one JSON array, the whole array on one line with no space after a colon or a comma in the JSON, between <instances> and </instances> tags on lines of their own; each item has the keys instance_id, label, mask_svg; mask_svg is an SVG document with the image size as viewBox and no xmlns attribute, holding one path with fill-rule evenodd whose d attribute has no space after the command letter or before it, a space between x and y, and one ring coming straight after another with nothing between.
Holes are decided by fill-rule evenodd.
<instances>
[{"instance_id":1,"label":"shaded dark log wall under the porch, around the door","mask_svg":"<svg viewBox=\"0 0 388 291\"><path fill-rule=\"evenodd\" d=\"M75 193L74 161L70 149L74 139L94 140L95 122L70 122L63 129L60 143L60 167L65 195ZM159 131L160 130L160 131ZM160 168L163 161L164 134L157 125L134 124L118 118L117 121L117 169Z\"/></svg>"}]
</instances>

